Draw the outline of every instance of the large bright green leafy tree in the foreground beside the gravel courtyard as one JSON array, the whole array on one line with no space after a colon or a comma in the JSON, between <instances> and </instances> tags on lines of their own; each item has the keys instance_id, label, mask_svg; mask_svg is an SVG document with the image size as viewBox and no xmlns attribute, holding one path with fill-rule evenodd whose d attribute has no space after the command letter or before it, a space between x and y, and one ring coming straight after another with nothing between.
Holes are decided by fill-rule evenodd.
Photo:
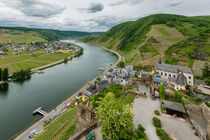
<instances>
[{"instance_id":1,"label":"large bright green leafy tree in the foreground beside the gravel courtyard","mask_svg":"<svg viewBox=\"0 0 210 140\"><path fill-rule=\"evenodd\" d=\"M119 107L113 93L109 92L96 108L96 117L103 136L110 139L129 139L134 132L133 113L129 105Z\"/></svg>"}]
</instances>

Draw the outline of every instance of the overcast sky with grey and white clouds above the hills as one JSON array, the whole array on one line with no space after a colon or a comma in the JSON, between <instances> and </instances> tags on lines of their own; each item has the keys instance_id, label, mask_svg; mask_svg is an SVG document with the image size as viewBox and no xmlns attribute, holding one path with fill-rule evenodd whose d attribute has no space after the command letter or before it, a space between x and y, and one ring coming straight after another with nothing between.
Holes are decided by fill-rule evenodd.
<instances>
[{"instance_id":1,"label":"overcast sky with grey and white clouds above the hills","mask_svg":"<svg viewBox=\"0 0 210 140\"><path fill-rule=\"evenodd\" d=\"M210 15L210 0L0 0L0 26L106 31L155 13Z\"/></svg>"}]
</instances>

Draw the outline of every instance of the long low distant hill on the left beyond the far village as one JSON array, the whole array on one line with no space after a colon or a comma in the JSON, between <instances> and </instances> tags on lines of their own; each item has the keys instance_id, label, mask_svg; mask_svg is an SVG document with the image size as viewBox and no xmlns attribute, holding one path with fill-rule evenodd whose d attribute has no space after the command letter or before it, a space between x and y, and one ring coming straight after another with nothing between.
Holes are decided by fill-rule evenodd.
<instances>
[{"instance_id":1,"label":"long low distant hill on the left beyond the far village","mask_svg":"<svg viewBox=\"0 0 210 140\"><path fill-rule=\"evenodd\" d=\"M0 27L0 42L30 43L34 41L52 41L67 37L84 37L100 32L59 31L52 29L34 29L25 27Z\"/></svg>"}]
</instances>

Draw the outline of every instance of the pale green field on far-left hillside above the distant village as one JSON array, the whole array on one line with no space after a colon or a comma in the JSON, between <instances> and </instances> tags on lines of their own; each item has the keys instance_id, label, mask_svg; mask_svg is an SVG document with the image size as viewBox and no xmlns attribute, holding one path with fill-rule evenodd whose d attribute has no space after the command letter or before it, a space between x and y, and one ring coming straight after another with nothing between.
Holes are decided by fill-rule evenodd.
<instances>
[{"instance_id":1,"label":"pale green field on far-left hillside above the distant village","mask_svg":"<svg viewBox=\"0 0 210 140\"><path fill-rule=\"evenodd\" d=\"M0 29L0 42L1 43L31 43L31 41L40 42L45 41L43 37L41 37L36 32L24 32L24 31L16 31L16 30L6 30Z\"/></svg>"}]
</instances>

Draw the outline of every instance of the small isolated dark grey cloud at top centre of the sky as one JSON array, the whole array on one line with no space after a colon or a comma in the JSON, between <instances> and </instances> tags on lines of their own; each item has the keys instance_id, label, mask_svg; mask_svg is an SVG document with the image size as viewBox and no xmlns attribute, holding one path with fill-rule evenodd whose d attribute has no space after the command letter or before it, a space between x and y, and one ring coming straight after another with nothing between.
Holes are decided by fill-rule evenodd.
<instances>
[{"instance_id":1,"label":"small isolated dark grey cloud at top centre of the sky","mask_svg":"<svg viewBox=\"0 0 210 140\"><path fill-rule=\"evenodd\" d=\"M100 12L104 9L104 5L101 3L91 3L88 8L81 8L81 11L86 11L88 13Z\"/></svg>"}]
</instances>

